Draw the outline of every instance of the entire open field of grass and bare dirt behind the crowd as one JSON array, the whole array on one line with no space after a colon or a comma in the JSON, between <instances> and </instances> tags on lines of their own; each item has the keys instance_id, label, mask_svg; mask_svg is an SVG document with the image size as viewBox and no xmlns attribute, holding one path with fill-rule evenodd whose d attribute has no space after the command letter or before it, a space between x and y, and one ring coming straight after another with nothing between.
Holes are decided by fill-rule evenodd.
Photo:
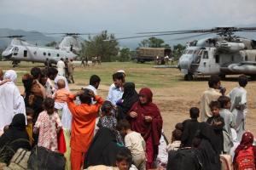
<instances>
[{"instance_id":1,"label":"entire open field of grass and bare dirt behind the crowd","mask_svg":"<svg viewBox=\"0 0 256 170\"><path fill-rule=\"evenodd\" d=\"M20 91L23 91L21 76L26 71L30 71L33 66L41 66L42 64L21 63L15 68L18 71L18 83ZM72 91L79 90L88 84L92 74L101 77L102 82L98 89L98 93L106 98L108 87L112 83L112 74L118 70L125 70L126 82L135 82L136 88L139 90L143 87L151 88L154 93L154 103L159 108L164 119L164 129L168 139L171 139L173 127L177 122L183 122L189 118L189 108L199 106L201 94L207 89L207 78L199 78L194 82L184 82L183 75L177 69L155 69L152 63L137 64L131 62L112 62L102 63L90 67L80 67L77 65L74 71L75 84L70 84ZM0 62L0 68L3 70L12 69L9 62ZM222 84L229 92L237 86L236 77L228 77L222 81ZM249 82L247 85L247 129L256 134L255 120L256 111L255 102L255 85L256 82Z\"/></svg>"}]
</instances>

